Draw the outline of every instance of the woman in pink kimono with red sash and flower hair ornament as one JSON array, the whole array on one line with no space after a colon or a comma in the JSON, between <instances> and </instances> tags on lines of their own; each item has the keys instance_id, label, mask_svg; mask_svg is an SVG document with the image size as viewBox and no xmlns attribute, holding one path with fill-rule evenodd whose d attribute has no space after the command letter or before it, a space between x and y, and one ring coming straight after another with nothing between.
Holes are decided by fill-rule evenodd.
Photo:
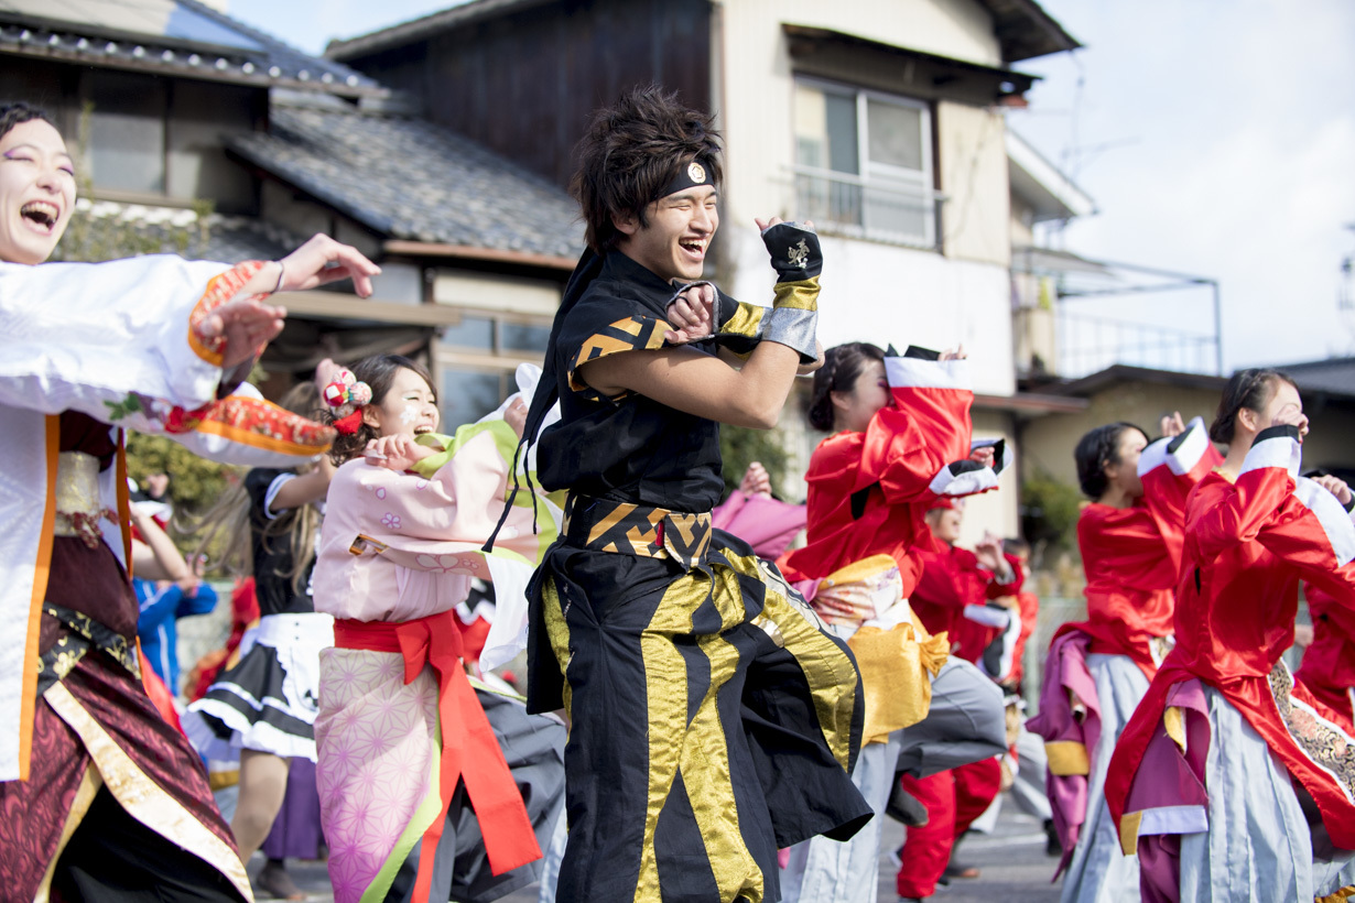
<instances>
[{"instance_id":1,"label":"woman in pink kimono with red sash and flower hair ornament","mask_svg":"<svg viewBox=\"0 0 1355 903\"><path fill-rule=\"evenodd\" d=\"M564 724L469 678L457 619L473 577L520 598L556 537L558 508L527 497L480 550L526 406L439 435L431 376L394 355L325 401L340 467L314 570L316 611L335 616L316 746L335 900L496 899L535 880L564 793ZM534 506L551 513L537 531Z\"/></svg>"}]
</instances>

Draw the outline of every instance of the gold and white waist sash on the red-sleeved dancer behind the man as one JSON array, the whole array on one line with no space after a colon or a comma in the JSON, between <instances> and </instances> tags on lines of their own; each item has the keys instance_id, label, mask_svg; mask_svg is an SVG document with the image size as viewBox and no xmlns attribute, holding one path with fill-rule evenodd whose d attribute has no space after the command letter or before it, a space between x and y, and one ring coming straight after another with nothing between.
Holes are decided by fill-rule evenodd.
<instances>
[{"instance_id":1,"label":"gold and white waist sash on the red-sleeved dancer behind the man","mask_svg":"<svg viewBox=\"0 0 1355 903\"><path fill-rule=\"evenodd\" d=\"M847 646L866 692L862 745L883 743L927 718L931 678L946 663L950 640L917 620L893 558L871 555L833 571L820 581L813 607L829 623L856 625Z\"/></svg>"}]
</instances>

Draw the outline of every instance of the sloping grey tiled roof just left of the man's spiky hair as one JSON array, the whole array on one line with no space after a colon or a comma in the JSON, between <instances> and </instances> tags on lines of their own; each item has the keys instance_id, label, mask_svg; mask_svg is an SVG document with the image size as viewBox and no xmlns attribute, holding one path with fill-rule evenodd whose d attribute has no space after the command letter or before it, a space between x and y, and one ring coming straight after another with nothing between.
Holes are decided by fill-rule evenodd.
<instances>
[{"instance_id":1,"label":"sloping grey tiled roof just left of the man's spiky hair","mask_svg":"<svg viewBox=\"0 0 1355 903\"><path fill-rule=\"evenodd\" d=\"M550 181L430 122L274 103L230 149L390 238L573 257L577 206Z\"/></svg>"}]
</instances>

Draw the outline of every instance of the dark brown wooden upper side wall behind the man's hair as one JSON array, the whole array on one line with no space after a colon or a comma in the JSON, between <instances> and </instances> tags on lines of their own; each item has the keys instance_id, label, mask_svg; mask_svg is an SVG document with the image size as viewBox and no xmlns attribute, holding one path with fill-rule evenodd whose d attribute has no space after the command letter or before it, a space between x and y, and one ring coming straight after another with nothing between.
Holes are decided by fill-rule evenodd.
<instances>
[{"instance_id":1,"label":"dark brown wooden upper side wall behind the man's hair","mask_svg":"<svg viewBox=\"0 0 1355 903\"><path fill-rule=\"evenodd\" d=\"M657 83L710 110L709 0L558 0L346 62L566 185L588 118Z\"/></svg>"}]
</instances>

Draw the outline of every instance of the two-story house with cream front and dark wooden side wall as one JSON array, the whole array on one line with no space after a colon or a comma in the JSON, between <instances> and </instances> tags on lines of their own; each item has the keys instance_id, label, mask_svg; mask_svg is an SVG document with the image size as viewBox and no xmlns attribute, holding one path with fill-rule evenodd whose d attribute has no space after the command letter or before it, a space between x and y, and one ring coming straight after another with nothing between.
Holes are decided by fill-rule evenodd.
<instances>
[{"instance_id":1,"label":"two-story house with cream front and dark wooden side wall","mask_svg":"<svg viewBox=\"0 0 1355 903\"><path fill-rule=\"evenodd\" d=\"M753 218L813 219L824 344L963 345L977 431L1009 436L1003 108L1034 83L1009 65L1077 46L1033 0L473 0L327 56L560 185L593 108L637 84L676 89L725 134L713 275L767 296ZM802 420L782 418L797 472L817 439ZM973 502L973 529L1015 532L1009 481Z\"/></svg>"}]
</instances>

